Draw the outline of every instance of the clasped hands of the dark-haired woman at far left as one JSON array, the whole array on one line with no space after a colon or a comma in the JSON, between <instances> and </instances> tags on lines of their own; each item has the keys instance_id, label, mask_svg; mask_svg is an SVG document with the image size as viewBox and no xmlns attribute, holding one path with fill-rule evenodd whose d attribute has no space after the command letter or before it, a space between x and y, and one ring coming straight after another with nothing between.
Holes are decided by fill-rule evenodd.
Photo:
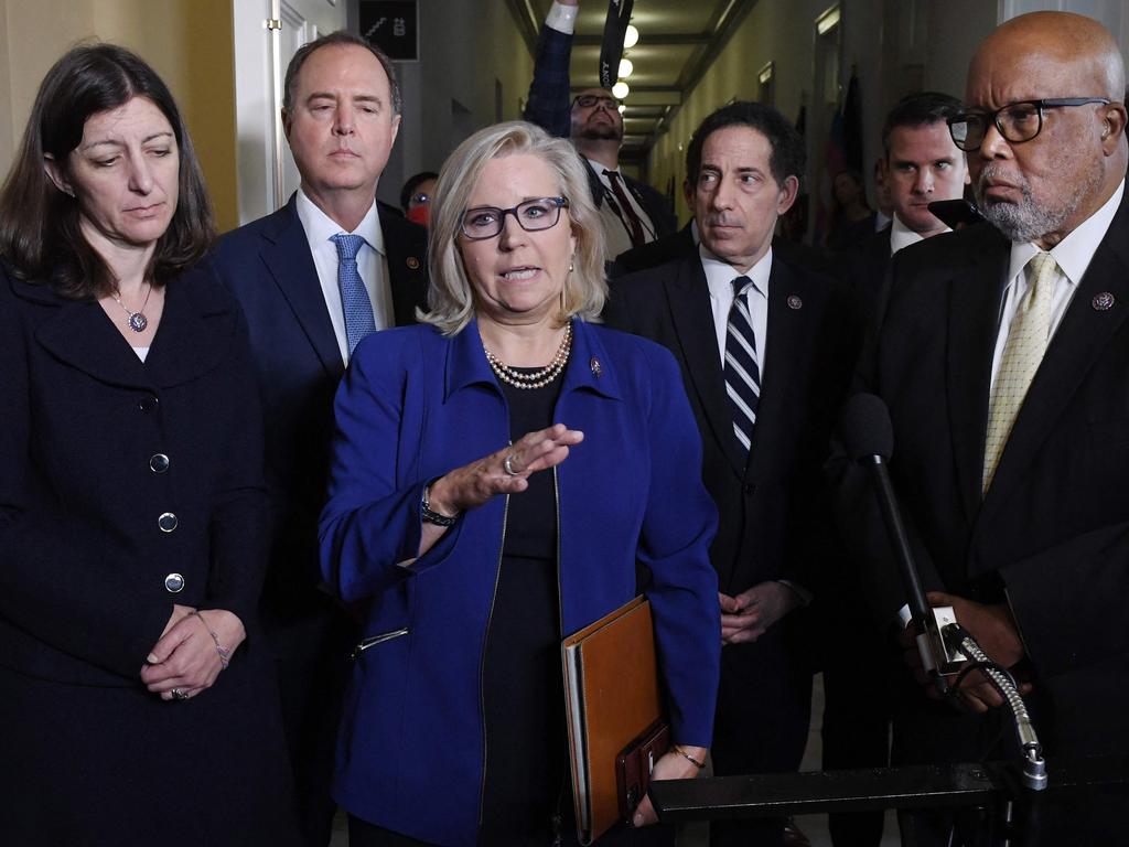
<instances>
[{"instance_id":1,"label":"clasped hands of the dark-haired woman at far left","mask_svg":"<svg viewBox=\"0 0 1129 847\"><path fill-rule=\"evenodd\" d=\"M243 621L231 612L204 609L203 620L195 612L192 606L173 606L165 631L141 669L146 688L163 700L189 699L210 688L224 670L217 641L230 655L247 637ZM211 632L216 634L216 640ZM181 696L174 696L174 689Z\"/></svg>"}]
</instances>

